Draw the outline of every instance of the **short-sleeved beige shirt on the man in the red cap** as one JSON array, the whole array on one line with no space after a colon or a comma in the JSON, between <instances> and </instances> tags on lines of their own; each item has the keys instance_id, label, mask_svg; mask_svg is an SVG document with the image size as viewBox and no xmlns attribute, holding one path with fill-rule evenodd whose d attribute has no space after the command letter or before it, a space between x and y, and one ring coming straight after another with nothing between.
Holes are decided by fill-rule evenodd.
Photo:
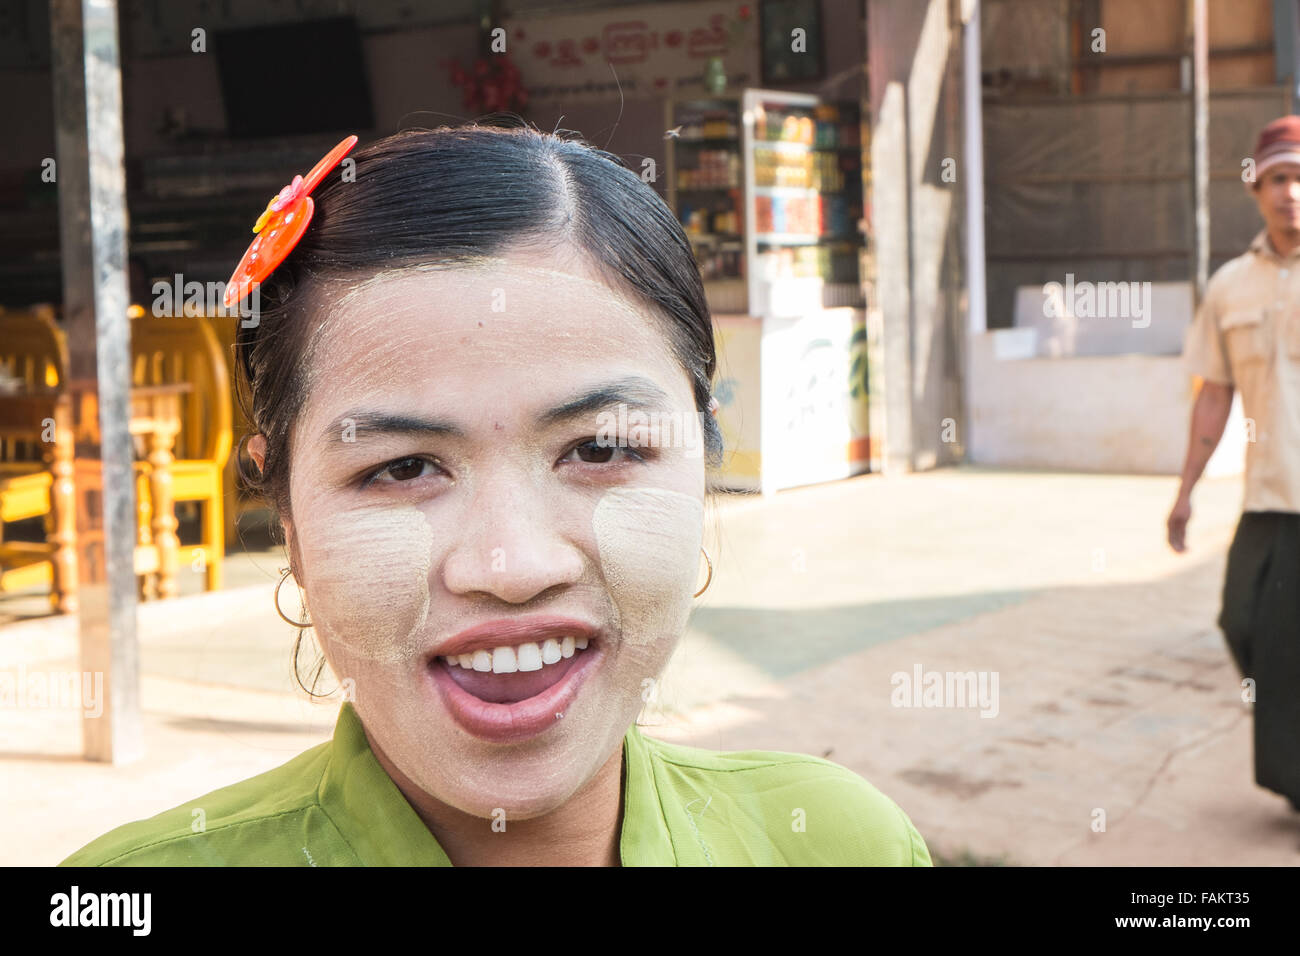
<instances>
[{"instance_id":1,"label":"short-sleeved beige shirt on the man in the red cap","mask_svg":"<svg viewBox=\"0 0 1300 956\"><path fill-rule=\"evenodd\" d=\"M1187 333L1192 375L1234 385L1247 418L1244 511L1300 511L1300 248L1266 232L1214 273ZM1253 423L1253 425L1252 425Z\"/></svg>"}]
</instances>

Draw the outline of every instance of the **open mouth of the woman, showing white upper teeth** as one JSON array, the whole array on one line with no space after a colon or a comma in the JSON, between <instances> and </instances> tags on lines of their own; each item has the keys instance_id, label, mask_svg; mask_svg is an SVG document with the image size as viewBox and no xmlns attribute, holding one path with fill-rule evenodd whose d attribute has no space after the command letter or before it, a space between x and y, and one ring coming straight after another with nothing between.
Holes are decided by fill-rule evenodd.
<instances>
[{"instance_id":1,"label":"open mouth of the woman, showing white upper teeth","mask_svg":"<svg viewBox=\"0 0 1300 956\"><path fill-rule=\"evenodd\" d=\"M462 728L482 740L517 743L560 723L603 657L599 640L554 635L433 657L428 674Z\"/></svg>"}]
</instances>

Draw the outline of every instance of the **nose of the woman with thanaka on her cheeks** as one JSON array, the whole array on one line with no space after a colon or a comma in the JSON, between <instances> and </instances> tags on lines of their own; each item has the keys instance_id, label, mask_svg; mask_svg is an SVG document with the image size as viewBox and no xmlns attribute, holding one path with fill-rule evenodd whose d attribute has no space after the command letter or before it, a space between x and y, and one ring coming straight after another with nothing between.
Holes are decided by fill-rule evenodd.
<instances>
[{"instance_id":1,"label":"nose of the woman with thanaka on her cheeks","mask_svg":"<svg viewBox=\"0 0 1300 956\"><path fill-rule=\"evenodd\" d=\"M471 480L465 520L442 563L447 591L525 604L582 579L582 553L564 536L555 490L542 481L523 468Z\"/></svg>"}]
</instances>

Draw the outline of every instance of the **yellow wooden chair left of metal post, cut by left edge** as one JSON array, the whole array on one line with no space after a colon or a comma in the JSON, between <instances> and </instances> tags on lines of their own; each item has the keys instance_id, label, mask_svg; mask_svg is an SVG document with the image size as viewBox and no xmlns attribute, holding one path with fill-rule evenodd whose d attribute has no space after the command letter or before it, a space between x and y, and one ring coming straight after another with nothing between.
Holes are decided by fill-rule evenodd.
<instances>
[{"instance_id":1,"label":"yellow wooden chair left of metal post, cut by left edge","mask_svg":"<svg viewBox=\"0 0 1300 956\"><path fill-rule=\"evenodd\" d=\"M52 306L25 310L0 308L0 367L8 378L21 382L25 393L55 394L68 368L68 343L55 324ZM69 559L58 558L60 536L75 540L75 515L64 515L56 528L51 493L53 442L43 423L31 423L27 433L0 437L0 592L47 585L57 611L75 610L77 581ZM72 436L65 436L70 440ZM46 519L44 541L5 541L4 524L30 518ZM73 558L74 561L74 558Z\"/></svg>"}]
</instances>

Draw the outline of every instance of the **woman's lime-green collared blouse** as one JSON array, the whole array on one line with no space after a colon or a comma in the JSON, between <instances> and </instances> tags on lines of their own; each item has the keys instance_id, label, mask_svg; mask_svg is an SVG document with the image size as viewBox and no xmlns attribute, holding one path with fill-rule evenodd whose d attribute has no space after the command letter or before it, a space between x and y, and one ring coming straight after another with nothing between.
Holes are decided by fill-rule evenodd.
<instances>
[{"instance_id":1,"label":"woman's lime-green collared blouse","mask_svg":"<svg viewBox=\"0 0 1300 956\"><path fill-rule=\"evenodd\" d=\"M930 866L920 834L853 771L816 757L623 740L624 866ZM203 825L194 810L203 810ZM202 832L196 832L200 830ZM333 740L126 823L61 866L450 866L374 760L351 704Z\"/></svg>"}]
</instances>

